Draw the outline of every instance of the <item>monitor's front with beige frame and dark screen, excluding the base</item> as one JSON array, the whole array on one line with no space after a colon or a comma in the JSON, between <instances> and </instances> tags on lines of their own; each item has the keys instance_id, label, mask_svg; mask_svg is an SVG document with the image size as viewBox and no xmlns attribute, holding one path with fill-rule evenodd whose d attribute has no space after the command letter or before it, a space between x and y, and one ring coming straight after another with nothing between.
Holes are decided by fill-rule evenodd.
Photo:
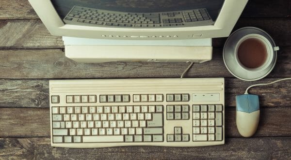
<instances>
[{"instance_id":1,"label":"monitor's front with beige frame and dark screen, excluding the base","mask_svg":"<svg viewBox=\"0 0 291 160\"><path fill-rule=\"evenodd\" d=\"M29 0L52 35L114 40L226 37L248 0Z\"/></svg>"}]
</instances>

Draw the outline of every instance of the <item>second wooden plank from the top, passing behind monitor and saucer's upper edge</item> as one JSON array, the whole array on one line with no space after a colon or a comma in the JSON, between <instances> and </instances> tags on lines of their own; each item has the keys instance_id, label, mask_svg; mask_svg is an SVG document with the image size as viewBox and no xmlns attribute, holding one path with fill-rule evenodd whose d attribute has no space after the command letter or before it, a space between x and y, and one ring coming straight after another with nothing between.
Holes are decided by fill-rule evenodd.
<instances>
[{"instance_id":1,"label":"second wooden plank from the top, passing behind monitor and saucer's upper edge","mask_svg":"<svg viewBox=\"0 0 291 160\"><path fill-rule=\"evenodd\" d=\"M289 18L241 18L235 29L253 26L266 30L278 46L291 46ZM0 20L0 49L64 48L61 37L52 36L40 20ZM223 47L226 38L213 39Z\"/></svg>"}]
</instances>

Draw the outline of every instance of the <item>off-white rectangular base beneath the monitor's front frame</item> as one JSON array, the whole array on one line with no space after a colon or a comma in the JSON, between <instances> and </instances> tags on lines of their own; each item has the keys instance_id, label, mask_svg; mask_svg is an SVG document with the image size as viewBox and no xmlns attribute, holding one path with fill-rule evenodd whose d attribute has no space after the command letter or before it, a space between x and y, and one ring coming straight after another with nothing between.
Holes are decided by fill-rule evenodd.
<instances>
[{"instance_id":1,"label":"off-white rectangular base beneath the monitor's front frame","mask_svg":"<svg viewBox=\"0 0 291 160\"><path fill-rule=\"evenodd\" d=\"M188 41L104 41L72 37L63 39L65 56L81 63L111 61L202 63L212 58L211 39Z\"/></svg>"}]
</instances>

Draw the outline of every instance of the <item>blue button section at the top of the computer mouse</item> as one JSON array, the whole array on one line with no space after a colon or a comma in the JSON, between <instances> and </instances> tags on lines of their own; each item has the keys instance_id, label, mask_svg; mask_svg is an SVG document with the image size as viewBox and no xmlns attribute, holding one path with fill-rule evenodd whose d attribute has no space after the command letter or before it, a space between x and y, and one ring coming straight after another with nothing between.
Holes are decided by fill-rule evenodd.
<instances>
[{"instance_id":1,"label":"blue button section at the top of the computer mouse","mask_svg":"<svg viewBox=\"0 0 291 160\"><path fill-rule=\"evenodd\" d=\"M243 94L236 96L237 111L252 113L259 110L259 96Z\"/></svg>"}]
</instances>

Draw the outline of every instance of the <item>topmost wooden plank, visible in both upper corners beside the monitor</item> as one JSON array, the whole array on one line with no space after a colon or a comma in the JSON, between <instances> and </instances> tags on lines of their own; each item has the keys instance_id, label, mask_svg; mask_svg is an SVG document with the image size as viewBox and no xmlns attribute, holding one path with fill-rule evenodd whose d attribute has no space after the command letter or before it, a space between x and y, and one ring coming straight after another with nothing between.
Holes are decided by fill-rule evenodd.
<instances>
[{"instance_id":1,"label":"topmost wooden plank, visible in both upper corners beside the monitor","mask_svg":"<svg viewBox=\"0 0 291 160\"><path fill-rule=\"evenodd\" d=\"M1 0L0 6L0 19L38 18L28 0ZM267 3L265 0L249 0L242 13L243 17L289 17L290 15L289 0L268 0Z\"/></svg>"}]
</instances>

